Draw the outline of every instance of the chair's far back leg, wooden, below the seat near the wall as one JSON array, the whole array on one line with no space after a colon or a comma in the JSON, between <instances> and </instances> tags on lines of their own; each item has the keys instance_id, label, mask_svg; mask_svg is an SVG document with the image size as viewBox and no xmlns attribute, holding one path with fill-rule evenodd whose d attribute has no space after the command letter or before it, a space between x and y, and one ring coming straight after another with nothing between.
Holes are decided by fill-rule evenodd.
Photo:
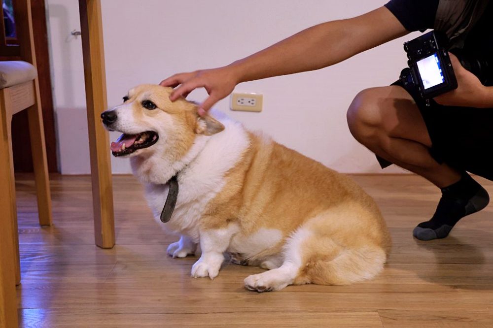
<instances>
[{"instance_id":1,"label":"chair's far back leg, wooden, below the seat near the wall","mask_svg":"<svg viewBox=\"0 0 493 328\"><path fill-rule=\"evenodd\" d=\"M36 92L36 94L38 93ZM53 219L51 212L50 180L48 176L43 117L39 97L36 97L36 103L28 108L28 121L33 152L39 224L41 226L51 226Z\"/></svg>"}]
</instances>

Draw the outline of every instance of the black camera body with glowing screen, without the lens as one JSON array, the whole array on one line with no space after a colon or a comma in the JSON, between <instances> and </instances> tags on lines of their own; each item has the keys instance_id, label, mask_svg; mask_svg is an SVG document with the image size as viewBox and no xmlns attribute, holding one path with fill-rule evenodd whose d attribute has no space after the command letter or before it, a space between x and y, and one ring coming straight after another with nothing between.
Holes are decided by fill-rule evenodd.
<instances>
[{"instance_id":1,"label":"black camera body with glowing screen, without the lens","mask_svg":"<svg viewBox=\"0 0 493 328\"><path fill-rule=\"evenodd\" d=\"M400 79L405 87L416 87L423 99L457 88L457 79L448 53L448 38L431 31L404 43L408 66Z\"/></svg>"}]
</instances>

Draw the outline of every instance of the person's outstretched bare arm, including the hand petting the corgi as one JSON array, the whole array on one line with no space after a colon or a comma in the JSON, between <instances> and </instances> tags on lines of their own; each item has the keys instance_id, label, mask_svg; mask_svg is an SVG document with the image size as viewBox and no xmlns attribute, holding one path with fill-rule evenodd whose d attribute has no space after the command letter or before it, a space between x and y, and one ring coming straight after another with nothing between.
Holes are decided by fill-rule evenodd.
<instances>
[{"instance_id":1,"label":"person's outstretched bare arm, including the hand petting the corgi","mask_svg":"<svg viewBox=\"0 0 493 328\"><path fill-rule=\"evenodd\" d=\"M177 87L172 100L205 88L209 98L202 103L204 113L238 83L331 66L407 33L397 18L381 7L313 26L228 66L175 74L160 84Z\"/></svg>"}]
</instances>

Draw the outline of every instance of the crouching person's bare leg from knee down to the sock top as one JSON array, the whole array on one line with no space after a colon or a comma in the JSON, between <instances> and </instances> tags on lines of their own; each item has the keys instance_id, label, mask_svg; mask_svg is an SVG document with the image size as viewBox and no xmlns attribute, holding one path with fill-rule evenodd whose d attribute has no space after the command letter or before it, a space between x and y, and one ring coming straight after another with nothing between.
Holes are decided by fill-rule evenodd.
<instances>
[{"instance_id":1,"label":"crouching person's bare leg from knee down to the sock top","mask_svg":"<svg viewBox=\"0 0 493 328\"><path fill-rule=\"evenodd\" d=\"M366 89L348 110L352 135L376 155L417 173L438 188L460 180L460 172L429 153L431 139L411 96L401 87Z\"/></svg>"}]
</instances>

